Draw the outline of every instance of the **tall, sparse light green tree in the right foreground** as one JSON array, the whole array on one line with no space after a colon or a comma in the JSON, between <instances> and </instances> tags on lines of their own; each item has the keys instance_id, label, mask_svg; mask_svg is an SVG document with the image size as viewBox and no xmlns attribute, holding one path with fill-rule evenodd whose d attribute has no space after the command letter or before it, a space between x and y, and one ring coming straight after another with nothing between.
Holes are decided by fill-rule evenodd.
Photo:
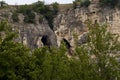
<instances>
[{"instance_id":1,"label":"tall, sparse light green tree in the right foreground","mask_svg":"<svg viewBox=\"0 0 120 80\"><path fill-rule=\"evenodd\" d=\"M119 67L120 64L116 60L118 51L120 51L120 43L118 41L118 35L114 35L107 30L107 26L94 26L90 23L89 25L89 46L87 49L90 50L88 53L96 56L95 73L98 74L100 80L113 80L120 79Z\"/></svg>"}]
</instances>

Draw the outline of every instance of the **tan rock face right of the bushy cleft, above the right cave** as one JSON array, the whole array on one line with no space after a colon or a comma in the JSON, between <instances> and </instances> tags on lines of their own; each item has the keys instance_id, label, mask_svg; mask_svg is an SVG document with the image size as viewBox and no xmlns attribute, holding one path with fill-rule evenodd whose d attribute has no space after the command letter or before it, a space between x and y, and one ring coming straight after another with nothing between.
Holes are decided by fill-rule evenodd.
<instances>
[{"instance_id":1,"label":"tan rock face right of the bushy cleft, above the right cave","mask_svg":"<svg viewBox=\"0 0 120 80\"><path fill-rule=\"evenodd\" d=\"M93 24L107 24L109 31L120 34L120 10L117 8L101 8L98 1L93 0L88 8L71 8L57 15L54 19L54 30L58 45L65 38L74 46L74 34L78 36L78 44L84 43L87 33L85 22L88 20L92 21Z\"/></svg>"}]
</instances>

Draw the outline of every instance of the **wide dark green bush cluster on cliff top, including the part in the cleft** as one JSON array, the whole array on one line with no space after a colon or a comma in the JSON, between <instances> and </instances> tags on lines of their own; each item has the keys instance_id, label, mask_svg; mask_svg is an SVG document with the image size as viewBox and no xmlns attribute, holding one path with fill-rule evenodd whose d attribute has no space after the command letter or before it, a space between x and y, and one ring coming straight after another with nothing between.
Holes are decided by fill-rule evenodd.
<instances>
[{"instance_id":1,"label":"wide dark green bush cluster on cliff top, including the part in the cleft","mask_svg":"<svg viewBox=\"0 0 120 80\"><path fill-rule=\"evenodd\" d=\"M51 6L53 9L51 9ZM20 6L17 12L23 13L25 15L24 22L26 23L35 23L34 12L41 14L43 15L42 19L45 18L48 21L50 28L53 29L53 19L57 15L58 6L59 4L56 2L51 5L45 5L44 2L38 1L31 5ZM39 18L40 23L41 23L41 15Z\"/></svg>"}]
</instances>

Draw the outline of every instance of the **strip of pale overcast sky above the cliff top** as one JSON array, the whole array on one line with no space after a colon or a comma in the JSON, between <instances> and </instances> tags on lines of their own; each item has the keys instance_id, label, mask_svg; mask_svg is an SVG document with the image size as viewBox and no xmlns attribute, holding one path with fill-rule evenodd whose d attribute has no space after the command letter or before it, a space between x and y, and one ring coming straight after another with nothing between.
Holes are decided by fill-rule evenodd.
<instances>
[{"instance_id":1,"label":"strip of pale overcast sky above the cliff top","mask_svg":"<svg viewBox=\"0 0 120 80\"><path fill-rule=\"evenodd\" d=\"M0 0L2 1L2 0ZM36 2L38 0L3 0L8 4L31 4L33 2ZM58 2L58 3L72 3L74 0L39 0L39 1L45 1L45 3L49 4L52 2Z\"/></svg>"}]
</instances>

